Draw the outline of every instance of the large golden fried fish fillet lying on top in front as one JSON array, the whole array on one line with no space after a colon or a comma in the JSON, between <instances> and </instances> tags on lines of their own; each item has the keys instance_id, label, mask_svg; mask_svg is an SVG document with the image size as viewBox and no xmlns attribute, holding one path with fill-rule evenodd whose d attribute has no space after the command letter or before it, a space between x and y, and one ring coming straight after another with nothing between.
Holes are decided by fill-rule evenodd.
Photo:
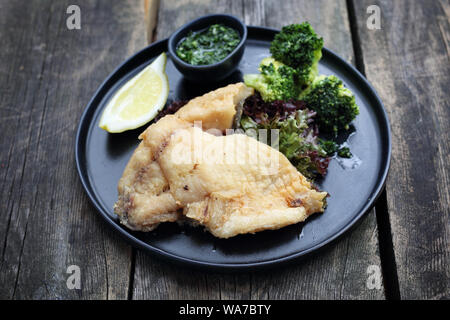
<instances>
[{"instance_id":1,"label":"large golden fried fish fillet lying on top in front","mask_svg":"<svg viewBox=\"0 0 450 320\"><path fill-rule=\"evenodd\" d=\"M323 211L327 193L270 146L242 134L214 136L175 116L158 124L143 143L183 215L214 236L279 229Z\"/></svg>"}]
</instances>

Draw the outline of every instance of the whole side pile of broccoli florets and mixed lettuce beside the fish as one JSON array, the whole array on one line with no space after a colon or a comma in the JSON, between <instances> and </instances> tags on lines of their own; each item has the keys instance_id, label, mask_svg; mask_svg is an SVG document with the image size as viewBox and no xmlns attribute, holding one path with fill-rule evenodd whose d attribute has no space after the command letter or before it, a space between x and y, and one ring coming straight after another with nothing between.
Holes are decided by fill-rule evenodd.
<instances>
[{"instance_id":1,"label":"whole side pile of broccoli florets and mixed lettuce beside the fish","mask_svg":"<svg viewBox=\"0 0 450 320\"><path fill-rule=\"evenodd\" d=\"M279 150L306 177L325 175L331 156L352 157L348 147L318 138L337 136L359 114L353 93L336 76L318 76L323 39L308 22L285 26L274 37L271 57L259 74L244 75L256 94L244 103L244 131L279 129Z\"/></svg>"}]
</instances>

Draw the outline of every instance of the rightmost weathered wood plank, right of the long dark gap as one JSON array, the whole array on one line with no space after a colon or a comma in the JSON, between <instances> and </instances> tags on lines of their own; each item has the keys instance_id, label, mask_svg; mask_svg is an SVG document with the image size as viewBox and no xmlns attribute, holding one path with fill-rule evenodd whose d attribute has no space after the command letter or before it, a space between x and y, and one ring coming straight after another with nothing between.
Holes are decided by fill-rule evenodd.
<instances>
[{"instance_id":1,"label":"rightmost weathered wood plank, right of the long dark gap","mask_svg":"<svg viewBox=\"0 0 450 320\"><path fill-rule=\"evenodd\" d=\"M366 9L381 9L381 29ZM366 76L392 128L387 205L403 299L449 299L450 4L354 1Z\"/></svg>"}]
</instances>

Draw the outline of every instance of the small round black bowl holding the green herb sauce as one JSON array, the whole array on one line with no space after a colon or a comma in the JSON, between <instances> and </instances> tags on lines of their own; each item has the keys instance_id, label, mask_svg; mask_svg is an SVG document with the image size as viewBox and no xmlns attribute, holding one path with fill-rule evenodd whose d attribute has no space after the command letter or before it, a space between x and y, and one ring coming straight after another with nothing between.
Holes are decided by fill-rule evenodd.
<instances>
[{"instance_id":1,"label":"small round black bowl holding the green herb sauce","mask_svg":"<svg viewBox=\"0 0 450 320\"><path fill-rule=\"evenodd\" d=\"M236 48L223 60L214 64L194 66L181 60L176 53L177 45L189 31L201 31L212 24L223 24L239 32L241 41ZM247 26L234 16L228 14L211 14L197 18L175 31L169 38L168 49L175 67L187 79L196 82L219 81L236 70L242 59L247 40Z\"/></svg>"}]
</instances>

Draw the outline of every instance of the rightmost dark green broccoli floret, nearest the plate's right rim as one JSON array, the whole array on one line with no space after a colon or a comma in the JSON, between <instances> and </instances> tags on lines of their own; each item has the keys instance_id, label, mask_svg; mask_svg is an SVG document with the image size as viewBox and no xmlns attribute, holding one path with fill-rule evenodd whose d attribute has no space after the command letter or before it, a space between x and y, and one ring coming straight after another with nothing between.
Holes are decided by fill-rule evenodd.
<instances>
[{"instance_id":1,"label":"rightmost dark green broccoli floret, nearest the plate's right rim","mask_svg":"<svg viewBox=\"0 0 450 320\"><path fill-rule=\"evenodd\" d=\"M347 130L359 114L355 96L336 76L317 77L299 99L317 112L316 122L323 131L336 134L340 129Z\"/></svg>"}]
</instances>

